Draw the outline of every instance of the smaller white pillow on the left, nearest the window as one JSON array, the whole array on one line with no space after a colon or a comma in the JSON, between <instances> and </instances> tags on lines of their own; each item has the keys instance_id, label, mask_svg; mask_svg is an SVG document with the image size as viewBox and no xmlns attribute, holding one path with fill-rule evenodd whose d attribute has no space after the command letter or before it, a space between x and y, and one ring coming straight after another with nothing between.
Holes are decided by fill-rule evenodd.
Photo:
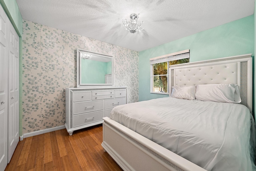
<instances>
[{"instance_id":1,"label":"smaller white pillow on the left, nearest the window","mask_svg":"<svg viewBox=\"0 0 256 171\"><path fill-rule=\"evenodd\" d=\"M194 100L195 93L196 86L193 85L173 86L171 97L175 97L177 99Z\"/></svg>"}]
</instances>

